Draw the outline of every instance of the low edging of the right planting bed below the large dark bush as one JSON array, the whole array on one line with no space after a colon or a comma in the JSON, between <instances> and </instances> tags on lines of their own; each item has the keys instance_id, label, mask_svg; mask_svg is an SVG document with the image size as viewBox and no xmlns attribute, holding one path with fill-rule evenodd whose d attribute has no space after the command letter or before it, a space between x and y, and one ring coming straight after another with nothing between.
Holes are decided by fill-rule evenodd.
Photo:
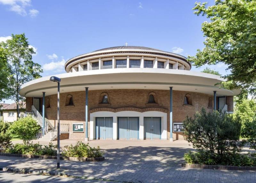
<instances>
[{"instance_id":1,"label":"low edging of the right planting bed below the large dark bush","mask_svg":"<svg viewBox=\"0 0 256 183\"><path fill-rule=\"evenodd\" d=\"M189 163L182 163L181 166L184 168L197 168L197 169L256 171L256 166L225 166L225 165L189 164Z\"/></svg>"}]
</instances>

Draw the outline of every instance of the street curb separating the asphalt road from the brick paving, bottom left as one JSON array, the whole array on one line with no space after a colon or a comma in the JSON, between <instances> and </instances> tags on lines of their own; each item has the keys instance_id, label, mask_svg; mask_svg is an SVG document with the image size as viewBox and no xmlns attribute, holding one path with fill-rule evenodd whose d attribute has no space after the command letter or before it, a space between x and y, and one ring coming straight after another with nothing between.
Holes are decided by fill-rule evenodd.
<instances>
[{"instance_id":1,"label":"street curb separating the asphalt road from the brick paving, bottom left","mask_svg":"<svg viewBox=\"0 0 256 183\"><path fill-rule=\"evenodd\" d=\"M125 183L141 183L137 181L124 181L124 180L118 180L118 179L102 179L102 178L96 178L96 177L83 177L83 176L76 176L72 175L70 173L66 172L57 172L54 170L33 170L33 169L27 169L27 168L11 168L11 167L0 167L0 170L5 172L13 172L13 173L28 173L28 174L34 174L34 175L52 175L52 176L66 176L70 178L79 178L79 179L93 179L93 180L101 180L101 181L111 181L111 182L125 182Z\"/></svg>"}]
</instances>

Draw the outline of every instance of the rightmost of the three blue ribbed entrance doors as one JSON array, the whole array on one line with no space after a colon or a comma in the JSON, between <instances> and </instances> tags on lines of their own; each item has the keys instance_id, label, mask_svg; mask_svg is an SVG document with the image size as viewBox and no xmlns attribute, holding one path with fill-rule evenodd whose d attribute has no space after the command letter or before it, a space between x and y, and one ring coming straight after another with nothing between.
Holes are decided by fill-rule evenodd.
<instances>
[{"instance_id":1,"label":"rightmost of the three blue ribbed entrance doors","mask_svg":"<svg viewBox=\"0 0 256 183\"><path fill-rule=\"evenodd\" d=\"M144 139L161 139L161 117L144 117Z\"/></svg>"}]
</instances>

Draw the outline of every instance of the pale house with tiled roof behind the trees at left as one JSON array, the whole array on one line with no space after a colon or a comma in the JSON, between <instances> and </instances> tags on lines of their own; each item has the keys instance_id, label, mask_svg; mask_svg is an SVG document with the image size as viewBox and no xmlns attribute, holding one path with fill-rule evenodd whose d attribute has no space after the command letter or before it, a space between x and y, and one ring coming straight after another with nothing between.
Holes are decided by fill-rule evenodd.
<instances>
[{"instance_id":1,"label":"pale house with tiled roof behind the trees at left","mask_svg":"<svg viewBox=\"0 0 256 183\"><path fill-rule=\"evenodd\" d=\"M17 120L17 105L16 103L5 104L0 103L2 108L0 110L0 114L2 115L2 120L4 122L14 122ZM20 116L26 115L26 103L20 102Z\"/></svg>"}]
</instances>

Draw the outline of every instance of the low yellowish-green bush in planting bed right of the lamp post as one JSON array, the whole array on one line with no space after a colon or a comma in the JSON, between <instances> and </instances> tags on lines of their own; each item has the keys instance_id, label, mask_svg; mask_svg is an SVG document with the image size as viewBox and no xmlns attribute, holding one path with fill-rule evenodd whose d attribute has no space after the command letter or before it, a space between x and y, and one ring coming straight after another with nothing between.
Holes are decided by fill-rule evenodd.
<instances>
[{"instance_id":1,"label":"low yellowish-green bush in planting bed right of the lamp post","mask_svg":"<svg viewBox=\"0 0 256 183\"><path fill-rule=\"evenodd\" d=\"M78 141L75 146L64 146L62 149L62 156L66 157L102 157L103 152L100 151L100 147L92 148L89 143L85 144Z\"/></svg>"}]
</instances>

